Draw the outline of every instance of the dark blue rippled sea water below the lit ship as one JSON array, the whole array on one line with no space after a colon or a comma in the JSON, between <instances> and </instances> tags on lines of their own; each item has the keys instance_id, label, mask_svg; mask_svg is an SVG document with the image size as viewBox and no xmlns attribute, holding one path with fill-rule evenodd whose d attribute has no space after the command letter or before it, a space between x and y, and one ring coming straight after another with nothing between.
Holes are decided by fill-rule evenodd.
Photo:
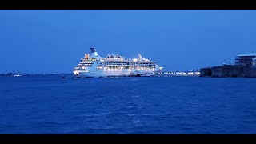
<instances>
[{"instance_id":1,"label":"dark blue rippled sea water below the lit ship","mask_svg":"<svg viewBox=\"0 0 256 144\"><path fill-rule=\"evenodd\" d=\"M0 77L0 134L256 134L255 78Z\"/></svg>"}]
</instances>

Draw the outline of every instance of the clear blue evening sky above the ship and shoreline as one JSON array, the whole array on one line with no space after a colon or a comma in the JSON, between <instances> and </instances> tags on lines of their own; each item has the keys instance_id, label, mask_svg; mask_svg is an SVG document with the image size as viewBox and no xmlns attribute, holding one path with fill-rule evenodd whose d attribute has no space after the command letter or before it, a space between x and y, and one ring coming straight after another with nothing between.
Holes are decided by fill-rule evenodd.
<instances>
[{"instance_id":1,"label":"clear blue evening sky above the ship and shoreline","mask_svg":"<svg viewBox=\"0 0 256 144\"><path fill-rule=\"evenodd\" d=\"M0 10L0 73L71 73L94 46L165 70L256 52L256 10Z\"/></svg>"}]
</instances>

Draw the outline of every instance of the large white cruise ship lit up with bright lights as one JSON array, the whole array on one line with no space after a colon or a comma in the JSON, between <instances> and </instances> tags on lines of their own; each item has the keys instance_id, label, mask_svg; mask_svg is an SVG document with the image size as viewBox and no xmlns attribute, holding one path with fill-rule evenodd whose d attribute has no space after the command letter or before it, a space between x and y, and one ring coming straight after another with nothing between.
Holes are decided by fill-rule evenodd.
<instances>
[{"instance_id":1,"label":"large white cruise ship lit up with bright lights","mask_svg":"<svg viewBox=\"0 0 256 144\"><path fill-rule=\"evenodd\" d=\"M154 77L162 68L157 62L142 58L141 54L133 59L118 54L107 54L106 58L102 58L94 48L90 48L90 54L81 58L73 73L75 78Z\"/></svg>"}]
</instances>

